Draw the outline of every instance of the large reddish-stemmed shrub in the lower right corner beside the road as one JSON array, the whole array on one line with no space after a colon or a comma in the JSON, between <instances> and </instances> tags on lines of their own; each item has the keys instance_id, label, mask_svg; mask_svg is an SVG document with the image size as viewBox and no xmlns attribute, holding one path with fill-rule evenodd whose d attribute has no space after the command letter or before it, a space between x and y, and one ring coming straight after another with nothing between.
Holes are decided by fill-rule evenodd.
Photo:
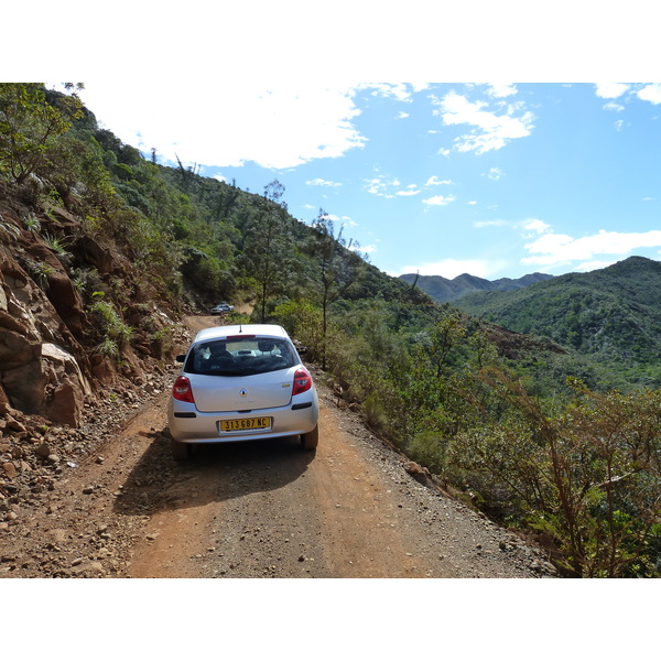
<instances>
[{"instance_id":1,"label":"large reddish-stemmed shrub in the lower right corner beside the road","mask_svg":"<svg viewBox=\"0 0 661 661\"><path fill-rule=\"evenodd\" d=\"M661 391L574 383L575 401L551 413L519 383L490 382L508 415L458 434L446 468L463 472L487 509L551 538L573 575L660 575Z\"/></svg>"}]
</instances>

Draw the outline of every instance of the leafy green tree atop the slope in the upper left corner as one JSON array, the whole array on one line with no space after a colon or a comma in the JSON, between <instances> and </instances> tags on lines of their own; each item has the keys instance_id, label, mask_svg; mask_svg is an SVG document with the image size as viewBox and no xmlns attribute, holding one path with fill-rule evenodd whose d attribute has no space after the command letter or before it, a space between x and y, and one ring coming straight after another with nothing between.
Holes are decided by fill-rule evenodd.
<instances>
[{"instance_id":1,"label":"leafy green tree atop the slope in the upper left corner","mask_svg":"<svg viewBox=\"0 0 661 661\"><path fill-rule=\"evenodd\" d=\"M73 84L66 87L75 89ZM0 167L18 185L40 173L54 143L83 115L76 91L56 99L56 104L46 101L42 84L0 84Z\"/></svg>"}]
</instances>

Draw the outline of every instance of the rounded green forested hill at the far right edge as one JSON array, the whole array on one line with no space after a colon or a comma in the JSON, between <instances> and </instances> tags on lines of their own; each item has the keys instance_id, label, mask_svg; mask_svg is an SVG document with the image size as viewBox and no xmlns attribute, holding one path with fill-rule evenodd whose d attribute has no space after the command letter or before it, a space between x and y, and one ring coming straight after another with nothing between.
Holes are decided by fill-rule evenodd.
<instances>
[{"instance_id":1,"label":"rounded green forested hill at the far right edge","mask_svg":"<svg viewBox=\"0 0 661 661\"><path fill-rule=\"evenodd\" d=\"M456 305L572 347L630 382L661 384L661 262L631 257L518 291L474 293Z\"/></svg>"}]
</instances>

